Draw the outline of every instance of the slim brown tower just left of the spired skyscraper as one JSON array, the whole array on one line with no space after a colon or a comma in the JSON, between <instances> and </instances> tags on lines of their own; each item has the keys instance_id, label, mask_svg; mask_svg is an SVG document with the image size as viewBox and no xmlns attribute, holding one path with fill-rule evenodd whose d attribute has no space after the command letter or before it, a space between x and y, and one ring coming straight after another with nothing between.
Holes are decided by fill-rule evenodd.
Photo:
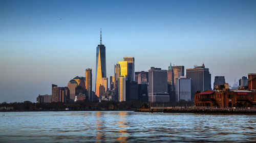
<instances>
[{"instance_id":1,"label":"slim brown tower just left of the spired skyscraper","mask_svg":"<svg viewBox=\"0 0 256 143\"><path fill-rule=\"evenodd\" d=\"M86 69L86 90L89 101L93 101L92 97L92 69Z\"/></svg>"}]
</instances>

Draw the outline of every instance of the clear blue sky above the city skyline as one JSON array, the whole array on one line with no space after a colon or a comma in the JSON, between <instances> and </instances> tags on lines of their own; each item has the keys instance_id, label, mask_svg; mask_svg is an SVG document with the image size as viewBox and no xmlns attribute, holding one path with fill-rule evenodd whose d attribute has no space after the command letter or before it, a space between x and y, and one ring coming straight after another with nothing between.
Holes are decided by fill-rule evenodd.
<instances>
[{"instance_id":1,"label":"clear blue sky above the city skyline","mask_svg":"<svg viewBox=\"0 0 256 143\"><path fill-rule=\"evenodd\" d=\"M106 73L125 56L135 71L203 63L233 85L256 73L256 1L0 1L0 103L36 102L66 87L106 47Z\"/></svg>"}]
</instances>

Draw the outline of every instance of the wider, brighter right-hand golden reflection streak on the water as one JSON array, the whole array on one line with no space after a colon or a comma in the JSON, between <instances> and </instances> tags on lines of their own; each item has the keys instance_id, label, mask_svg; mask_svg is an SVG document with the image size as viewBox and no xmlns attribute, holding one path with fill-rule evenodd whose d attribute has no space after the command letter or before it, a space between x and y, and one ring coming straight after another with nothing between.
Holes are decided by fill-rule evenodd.
<instances>
[{"instance_id":1,"label":"wider, brighter right-hand golden reflection streak on the water","mask_svg":"<svg viewBox=\"0 0 256 143\"><path fill-rule=\"evenodd\" d=\"M118 121L118 131L120 134L120 136L117 138L118 140L120 140L119 142L128 142L127 139L129 137L129 134L127 133L127 123L126 123L126 115L127 112L119 112L119 121Z\"/></svg>"}]
</instances>

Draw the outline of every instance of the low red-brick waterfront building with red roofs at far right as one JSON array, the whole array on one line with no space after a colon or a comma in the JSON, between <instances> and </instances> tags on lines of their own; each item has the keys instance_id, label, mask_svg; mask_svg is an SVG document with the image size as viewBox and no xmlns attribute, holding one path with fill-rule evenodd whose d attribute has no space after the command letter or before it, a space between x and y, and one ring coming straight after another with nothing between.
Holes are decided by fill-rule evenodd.
<instances>
[{"instance_id":1,"label":"low red-brick waterfront building with red roofs at far right","mask_svg":"<svg viewBox=\"0 0 256 143\"><path fill-rule=\"evenodd\" d=\"M246 90L198 92L195 94L195 106L221 107L221 108L256 108L256 92Z\"/></svg>"}]
</instances>

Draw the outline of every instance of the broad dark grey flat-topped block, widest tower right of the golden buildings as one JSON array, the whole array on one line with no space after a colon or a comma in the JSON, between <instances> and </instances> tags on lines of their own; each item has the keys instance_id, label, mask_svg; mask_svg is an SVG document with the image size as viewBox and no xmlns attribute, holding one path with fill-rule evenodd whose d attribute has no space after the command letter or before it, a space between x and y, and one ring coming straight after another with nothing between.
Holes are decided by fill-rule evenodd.
<instances>
[{"instance_id":1,"label":"broad dark grey flat-topped block, widest tower right of the golden buildings","mask_svg":"<svg viewBox=\"0 0 256 143\"><path fill-rule=\"evenodd\" d=\"M148 101L168 102L167 70L151 67L148 70Z\"/></svg>"}]
</instances>

